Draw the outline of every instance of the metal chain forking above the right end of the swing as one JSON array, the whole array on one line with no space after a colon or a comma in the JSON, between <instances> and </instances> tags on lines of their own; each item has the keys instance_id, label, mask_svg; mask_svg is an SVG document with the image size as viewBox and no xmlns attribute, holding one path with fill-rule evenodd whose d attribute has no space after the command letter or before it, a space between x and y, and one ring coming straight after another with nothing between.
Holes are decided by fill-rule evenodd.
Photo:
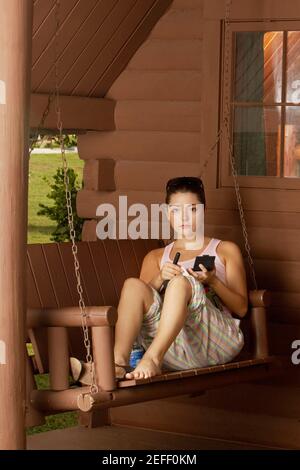
<instances>
[{"instance_id":1,"label":"metal chain forking above the right end of the swing","mask_svg":"<svg viewBox=\"0 0 300 470\"><path fill-rule=\"evenodd\" d=\"M220 139L223 135L225 135L226 140L227 140L227 145L228 145L228 152L229 152L229 157L230 157L230 165L231 165L231 172L233 176L233 181L234 181L234 189L235 189L235 194L236 194L236 199L237 199L237 204L238 204L238 209L239 209L239 216L240 216L240 221L241 221L241 226L242 226L242 231L243 231L243 237L244 237L244 244L245 244L245 250L247 252L247 261L249 264L250 268L250 274L253 279L253 283L255 286L255 289L257 290L257 280L256 280L256 274L255 274L255 268L254 268L254 263L253 263L253 258L251 255L251 248L249 245L249 237L248 237L248 231L247 231L247 226L246 226L246 221L245 221L245 216L244 216L244 209L243 209L243 203L242 203L242 197L240 193L240 188L237 180L237 169L236 169L236 161L234 157L234 151L233 151L233 145L231 142L231 135L230 135L230 77L229 77L229 65L230 65L230 12L231 12L231 6L232 6L232 0L225 0L225 21L224 21L224 27L225 27L225 35L224 35L224 51L225 51L225 56L224 56L224 95L225 95L225 110L223 114L223 119L220 125L220 129L217 133L217 138L212 147L210 148L208 152L208 157L205 160L202 169L200 171L200 177L202 177L208 161L210 160L215 148L220 142Z\"/></svg>"}]
</instances>

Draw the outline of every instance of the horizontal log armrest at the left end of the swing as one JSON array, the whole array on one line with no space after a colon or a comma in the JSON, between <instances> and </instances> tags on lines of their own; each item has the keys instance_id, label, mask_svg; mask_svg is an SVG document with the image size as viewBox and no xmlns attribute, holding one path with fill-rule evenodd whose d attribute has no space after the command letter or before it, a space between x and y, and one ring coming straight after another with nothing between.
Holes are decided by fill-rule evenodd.
<instances>
[{"instance_id":1,"label":"horizontal log armrest at the left end of the swing","mask_svg":"<svg viewBox=\"0 0 300 470\"><path fill-rule=\"evenodd\" d=\"M112 326L117 321L115 307L86 307L88 326ZM27 311L28 328L46 327L74 327L81 326L81 313L79 307L61 307L49 309L33 309Z\"/></svg>"}]
</instances>

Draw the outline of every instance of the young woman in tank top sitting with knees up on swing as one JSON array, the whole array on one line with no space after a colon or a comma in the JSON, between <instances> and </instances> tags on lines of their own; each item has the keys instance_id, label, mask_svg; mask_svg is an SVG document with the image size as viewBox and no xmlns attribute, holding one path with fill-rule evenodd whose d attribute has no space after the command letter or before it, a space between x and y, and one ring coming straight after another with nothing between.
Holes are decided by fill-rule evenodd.
<instances>
[{"instance_id":1,"label":"young woman in tank top sitting with knees up on swing","mask_svg":"<svg viewBox=\"0 0 300 470\"><path fill-rule=\"evenodd\" d=\"M181 229L181 237L149 252L140 277L124 282L115 326L118 378L146 378L162 370L224 364L233 360L244 345L240 320L233 317L243 317L248 307L239 247L206 236L199 246L195 209L203 204L205 210L199 178L169 180L166 203L170 224L175 231ZM173 264L176 252L180 252L177 265ZM214 269L207 271L200 265L202 271L193 271L195 257L203 254L215 256ZM166 280L168 285L160 293ZM144 347L145 354L128 372L135 340Z\"/></svg>"}]
</instances>

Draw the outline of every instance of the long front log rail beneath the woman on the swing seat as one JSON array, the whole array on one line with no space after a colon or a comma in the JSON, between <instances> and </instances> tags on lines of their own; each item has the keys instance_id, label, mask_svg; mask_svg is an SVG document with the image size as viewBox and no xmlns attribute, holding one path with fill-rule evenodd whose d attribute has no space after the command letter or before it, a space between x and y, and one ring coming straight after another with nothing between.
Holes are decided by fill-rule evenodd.
<instances>
[{"instance_id":1,"label":"long front log rail beneath the woman on the swing seat","mask_svg":"<svg viewBox=\"0 0 300 470\"><path fill-rule=\"evenodd\" d=\"M31 393L31 403L40 411L77 410L88 412L93 408L111 408L139 403L148 400L156 400L171 396L197 393L218 387L224 387L236 383L248 382L261 378L271 377L282 373L283 359L267 358L265 360L246 361L241 363L241 368L231 368L225 373L216 366L216 372L195 375L191 370L191 376L184 379L176 378L167 380L162 377L144 379L148 382L138 386L120 388L112 392L100 391L91 394L89 387L78 387L69 390L54 392L52 390L34 390ZM193 375L192 375L193 374ZM166 374L165 374L166 375ZM130 381L124 381L130 382ZM131 381L134 382L134 381ZM152 383L150 383L152 382Z\"/></svg>"}]
</instances>

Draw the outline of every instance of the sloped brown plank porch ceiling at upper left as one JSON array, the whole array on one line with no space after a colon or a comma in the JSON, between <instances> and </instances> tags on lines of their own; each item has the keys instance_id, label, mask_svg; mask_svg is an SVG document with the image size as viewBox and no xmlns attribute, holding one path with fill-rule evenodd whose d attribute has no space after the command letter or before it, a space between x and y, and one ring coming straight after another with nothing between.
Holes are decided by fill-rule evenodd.
<instances>
[{"instance_id":1,"label":"sloped brown plank porch ceiling at upper left","mask_svg":"<svg viewBox=\"0 0 300 470\"><path fill-rule=\"evenodd\" d=\"M55 84L55 0L33 0L32 93ZM61 0L60 92L103 97L172 0Z\"/></svg>"}]
</instances>

